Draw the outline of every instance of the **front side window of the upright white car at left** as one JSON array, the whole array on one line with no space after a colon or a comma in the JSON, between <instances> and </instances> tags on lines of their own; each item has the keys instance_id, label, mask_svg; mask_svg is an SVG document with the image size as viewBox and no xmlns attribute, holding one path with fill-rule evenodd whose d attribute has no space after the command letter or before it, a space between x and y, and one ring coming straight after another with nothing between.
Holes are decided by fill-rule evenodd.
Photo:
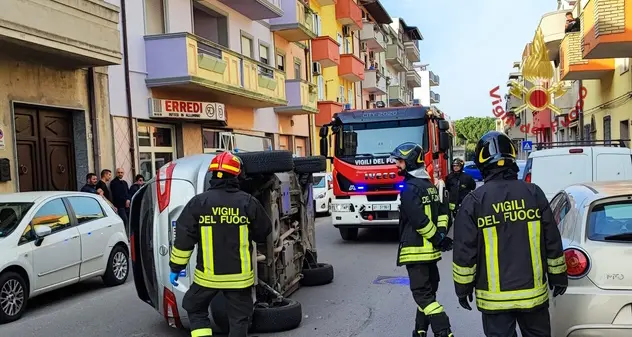
<instances>
[{"instance_id":1,"label":"front side window of the upright white car at left","mask_svg":"<svg viewBox=\"0 0 632 337\"><path fill-rule=\"evenodd\" d=\"M22 237L20 238L20 243L34 240L34 229L37 228L37 226L42 225L49 226L51 228L51 233L57 233L72 226L70 223L70 217L68 216L68 210L66 210L66 205L64 205L61 198L45 203L44 206L35 213L31 223L29 223L24 229Z\"/></svg>"}]
</instances>

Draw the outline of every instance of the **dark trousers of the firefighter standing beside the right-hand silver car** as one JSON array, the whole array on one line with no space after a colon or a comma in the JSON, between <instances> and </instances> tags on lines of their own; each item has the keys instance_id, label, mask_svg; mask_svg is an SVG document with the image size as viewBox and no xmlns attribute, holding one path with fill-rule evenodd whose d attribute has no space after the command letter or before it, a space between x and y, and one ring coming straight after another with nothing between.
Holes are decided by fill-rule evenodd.
<instances>
[{"instance_id":1,"label":"dark trousers of the firefighter standing beside the right-hand silver car","mask_svg":"<svg viewBox=\"0 0 632 337\"><path fill-rule=\"evenodd\" d=\"M522 337L551 337L547 307L531 312L483 314L483 331L487 337L517 337L516 322Z\"/></svg>"}]
</instances>

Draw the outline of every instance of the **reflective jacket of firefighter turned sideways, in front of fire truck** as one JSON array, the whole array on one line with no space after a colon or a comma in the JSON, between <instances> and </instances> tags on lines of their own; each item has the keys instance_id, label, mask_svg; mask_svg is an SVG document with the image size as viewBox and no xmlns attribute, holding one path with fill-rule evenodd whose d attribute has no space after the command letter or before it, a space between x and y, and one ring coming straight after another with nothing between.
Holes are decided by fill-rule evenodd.
<instances>
[{"instance_id":1,"label":"reflective jacket of firefighter turned sideways, in front of fire truck","mask_svg":"<svg viewBox=\"0 0 632 337\"><path fill-rule=\"evenodd\" d=\"M434 262L441 259L435 248L440 235L448 232L448 205L441 203L439 190L428 179L410 175L400 194L400 243L397 265Z\"/></svg>"}]
</instances>

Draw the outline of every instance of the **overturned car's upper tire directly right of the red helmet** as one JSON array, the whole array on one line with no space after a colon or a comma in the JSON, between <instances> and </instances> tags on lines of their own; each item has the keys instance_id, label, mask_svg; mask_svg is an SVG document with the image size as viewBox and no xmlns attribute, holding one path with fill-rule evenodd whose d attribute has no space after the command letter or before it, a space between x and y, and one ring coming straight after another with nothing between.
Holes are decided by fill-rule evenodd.
<instances>
[{"instance_id":1,"label":"overturned car's upper tire directly right of the red helmet","mask_svg":"<svg viewBox=\"0 0 632 337\"><path fill-rule=\"evenodd\" d=\"M236 153L246 174L272 174L294 169L292 152L285 150Z\"/></svg>"}]
</instances>

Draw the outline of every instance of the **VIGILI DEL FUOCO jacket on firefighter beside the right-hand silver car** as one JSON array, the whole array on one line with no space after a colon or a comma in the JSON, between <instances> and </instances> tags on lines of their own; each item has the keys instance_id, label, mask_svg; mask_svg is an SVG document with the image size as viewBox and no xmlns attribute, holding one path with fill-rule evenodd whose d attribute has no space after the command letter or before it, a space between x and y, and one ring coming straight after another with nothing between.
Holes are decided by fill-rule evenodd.
<instances>
[{"instance_id":1,"label":"VIGILI DEL FUOCO jacket on firefighter beside the right-hand silver car","mask_svg":"<svg viewBox=\"0 0 632 337\"><path fill-rule=\"evenodd\" d=\"M550 285L568 285L562 240L537 185L496 177L468 194L454 223L456 294L476 288L482 312L548 306Z\"/></svg>"}]
</instances>

